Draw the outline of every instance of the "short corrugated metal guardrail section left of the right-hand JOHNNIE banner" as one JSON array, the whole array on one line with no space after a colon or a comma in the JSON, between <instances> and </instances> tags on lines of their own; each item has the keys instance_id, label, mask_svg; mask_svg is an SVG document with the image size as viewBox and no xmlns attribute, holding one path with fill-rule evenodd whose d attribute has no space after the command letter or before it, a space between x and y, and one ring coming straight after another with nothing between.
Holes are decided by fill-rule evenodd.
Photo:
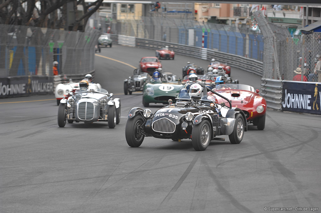
<instances>
[{"instance_id":1,"label":"short corrugated metal guardrail section left of the right-hand JOHNNIE banner","mask_svg":"<svg viewBox=\"0 0 321 213\"><path fill-rule=\"evenodd\" d=\"M261 79L261 96L265 98L267 107L282 110L282 87L281 80Z\"/></svg>"}]
</instances>

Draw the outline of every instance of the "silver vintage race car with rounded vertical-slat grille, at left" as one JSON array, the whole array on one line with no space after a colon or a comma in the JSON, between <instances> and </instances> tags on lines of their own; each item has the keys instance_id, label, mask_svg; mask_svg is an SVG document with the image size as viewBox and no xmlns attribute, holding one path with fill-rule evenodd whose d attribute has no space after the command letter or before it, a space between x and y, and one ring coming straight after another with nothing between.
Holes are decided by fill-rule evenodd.
<instances>
[{"instance_id":1,"label":"silver vintage race car with rounded vertical-slat grille, at left","mask_svg":"<svg viewBox=\"0 0 321 213\"><path fill-rule=\"evenodd\" d=\"M71 124L96 121L108 122L109 128L115 128L120 121L120 99L112 98L113 93L106 89L76 91L68 99L62 99L58 107L58 125L64 127L66 121Z\"/></svg>"}]
</instances>

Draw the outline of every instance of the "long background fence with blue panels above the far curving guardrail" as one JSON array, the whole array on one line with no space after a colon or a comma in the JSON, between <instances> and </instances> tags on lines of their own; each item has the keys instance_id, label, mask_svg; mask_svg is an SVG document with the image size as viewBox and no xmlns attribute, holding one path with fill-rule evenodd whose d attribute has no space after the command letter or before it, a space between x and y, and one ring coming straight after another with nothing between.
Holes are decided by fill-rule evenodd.
<instances>
[{"instance_id":1,"label":"long background fence with blue panels above the far curving guardrail","mask_svg":"<svg viewBox=\"0 0 321 213\"><path fill-rule=\"evenodd\" d=\"M209 48L225 53L240 55L263 61L263 35L253 31L252 27L243 24L215 24L197 22L190 19L159 17L139 17L117 21L96 20L112 34L160 40L170 43ZM107 26L107 27L105 27ZM204 40L204 42L203 42Z\"/></svg>"}]
</instances>

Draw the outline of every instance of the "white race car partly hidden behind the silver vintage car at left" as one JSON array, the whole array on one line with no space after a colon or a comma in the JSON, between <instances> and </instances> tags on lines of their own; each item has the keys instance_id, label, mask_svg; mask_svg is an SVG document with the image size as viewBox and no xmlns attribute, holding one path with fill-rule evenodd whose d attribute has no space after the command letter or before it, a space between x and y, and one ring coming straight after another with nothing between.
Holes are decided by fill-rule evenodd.
<instances>
[{"instance_id":1,"label":"white race car partly hidden behind the silver vintage car at left","mask_svg":"<svg viewBox=\"0 0 321 213\"><path fill-rule=\"evenodd\" d=\"M100 89L101 85L98 83L89 83L88 89ZM79 82L69 81L68 83L58 84L55 88L55 97L57 100L57 105L60 104L60 100L66 99L70 96L70 92L75 92L76 89L79 89Z\"/></svg>"}]
</instances>

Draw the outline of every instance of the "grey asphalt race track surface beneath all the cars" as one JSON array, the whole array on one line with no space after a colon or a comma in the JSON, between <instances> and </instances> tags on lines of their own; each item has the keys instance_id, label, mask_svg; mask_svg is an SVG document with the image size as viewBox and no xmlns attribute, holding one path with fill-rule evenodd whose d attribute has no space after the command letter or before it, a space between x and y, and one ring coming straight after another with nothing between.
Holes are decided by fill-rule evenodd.
<instances>
[{"instance_id":1,"label":"grey asphalt race track surface beneath all the cars","mask_svg":"<svg viewBox=\"0 0 321 213\"><path fill-rule=\"evenodd\" d=\"M96 82L121 99L115 129L107 123L59 128L53 95L0 99L1 213L321 211L320 116L268 110L265 130L249 125L240 144L227 137L201 152L189 140L152 137L130 148L126 115L143 107L142 93L123 95L123 80L150 55L113 45L95 57ZM208 64L181 55L161 61L164 71L178 75L187 61ZM259 88L254 74L233 67L231 77Z\"/></svg>"}]
</instances>

